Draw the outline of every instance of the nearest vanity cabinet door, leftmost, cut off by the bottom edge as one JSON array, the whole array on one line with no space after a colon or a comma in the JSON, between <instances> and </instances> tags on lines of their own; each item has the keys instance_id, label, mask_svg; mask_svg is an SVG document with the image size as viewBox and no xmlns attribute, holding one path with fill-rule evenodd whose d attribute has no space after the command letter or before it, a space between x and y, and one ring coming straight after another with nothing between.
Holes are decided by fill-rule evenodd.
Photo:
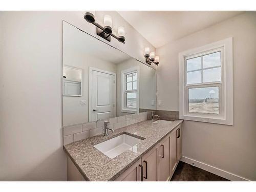
<instances>
[{"instance_id":1,"label":"nearest vanity cabinet door, leftmost, cut off by the bottom edge","mask_svg":"<svg viewBox=\"0 0 256 192\"><path fill-rule=\"evenodd\" d=\"M129 167L115 181L143 181L141 159Z\"/></svg>"}]
</instances>

